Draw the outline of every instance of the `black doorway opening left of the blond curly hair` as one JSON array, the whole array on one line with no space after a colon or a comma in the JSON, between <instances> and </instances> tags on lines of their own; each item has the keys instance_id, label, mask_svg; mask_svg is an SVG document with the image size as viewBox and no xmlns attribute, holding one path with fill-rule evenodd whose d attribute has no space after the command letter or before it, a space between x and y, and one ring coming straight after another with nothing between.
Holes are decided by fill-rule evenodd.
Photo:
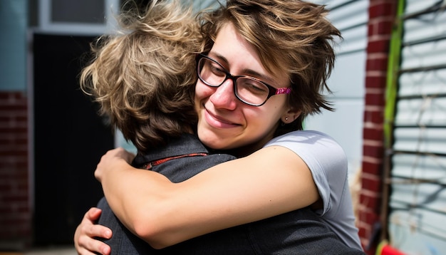
<instances>
[{"instance_id":1,"label":"black doorway opening left of the blond curly hair","mask_svg":"<svg viewBox=\"0 0 446 255\"><path fill-rule=\"evenodd\" d=\"M78 83L94 38L33 34L35 246L73 244L83 214L103 196L93 172L113 133Z\"/></svg>"}]
</instances>

